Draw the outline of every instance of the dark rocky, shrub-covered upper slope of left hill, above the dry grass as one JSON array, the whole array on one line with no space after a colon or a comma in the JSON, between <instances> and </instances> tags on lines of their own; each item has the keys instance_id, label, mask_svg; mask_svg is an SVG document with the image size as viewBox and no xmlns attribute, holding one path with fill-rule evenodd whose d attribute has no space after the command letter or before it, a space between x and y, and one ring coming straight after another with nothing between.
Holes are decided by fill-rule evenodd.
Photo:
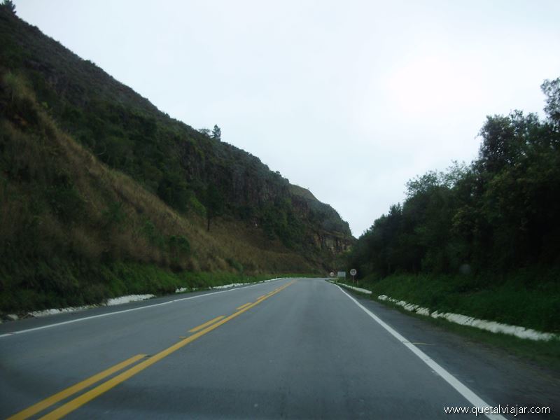
<instances>
[{"instance_id":1,"label":"dark rocky, shrub-covered upper slope of left hill, above the dry grass","mask_svg":"<svg viewBox=\"0 0 560 420\"><path fill-rule=\"evenodd\" d=\"M336 211L317 200L312 209L307 200L296 206L300 197L288 180L258 158L169 118L6 10L0 38L2 66L29 80L61 130L179 213L232 216L315 259L327 256L311 239L323 228L319 219L331 219L330 227L351 241Z\"/></svg>"}]
</instances>

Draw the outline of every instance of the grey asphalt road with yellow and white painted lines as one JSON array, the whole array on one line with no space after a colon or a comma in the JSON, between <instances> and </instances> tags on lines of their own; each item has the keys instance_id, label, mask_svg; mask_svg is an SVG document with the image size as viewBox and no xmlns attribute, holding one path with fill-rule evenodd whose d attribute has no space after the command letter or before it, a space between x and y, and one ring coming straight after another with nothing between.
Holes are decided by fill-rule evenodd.
<instances>
[{"instance_id":1,"label":"grey asphalt road with yellow and white painted lines","mask_svg":"<svg viewBox=\"0 0 560 420\"><path fill-rule=\"evenodd\" d=\"M473 402L554 416L557 378L518 367L323 279L281 279L0 325L0 416L449 419Z\"/></svg>"}]
</instances>

